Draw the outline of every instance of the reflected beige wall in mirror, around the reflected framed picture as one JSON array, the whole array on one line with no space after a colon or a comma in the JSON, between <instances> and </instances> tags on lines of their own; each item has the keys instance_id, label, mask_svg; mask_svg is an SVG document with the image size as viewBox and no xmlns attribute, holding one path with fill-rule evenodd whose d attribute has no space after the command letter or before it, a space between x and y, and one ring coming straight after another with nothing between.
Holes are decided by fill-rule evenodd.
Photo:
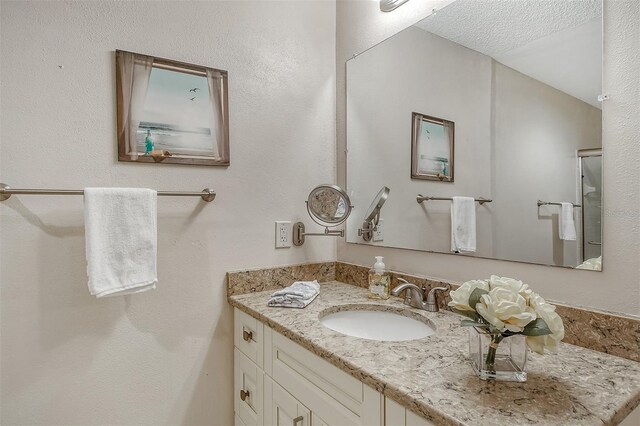
<instances>
[{"instance_id":1,"label":"reflected beige wall in mirror, around the reflected framed picture","mask_svg":"<svg viewBox=\"0 0 640 426\"><path fill-rule=\"evenodd\" d=\"M347 186L356 206L347 241L450 251L449 203L418 205L416 195L492 197L492 59L411 27L358 55L347 69ZM413 112L455 123L454 182L411 179ZM381 215L384 241L365 243L358 228L383 185L391 190ZM492 255L491 210L490 204L476 210L479 256Z\"/></svg>"}]
</instances>

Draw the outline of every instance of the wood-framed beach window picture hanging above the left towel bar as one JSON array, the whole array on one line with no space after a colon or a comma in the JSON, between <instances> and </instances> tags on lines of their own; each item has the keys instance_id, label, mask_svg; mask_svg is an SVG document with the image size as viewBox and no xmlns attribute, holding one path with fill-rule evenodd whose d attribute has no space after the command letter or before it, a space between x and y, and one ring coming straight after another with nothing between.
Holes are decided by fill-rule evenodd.
<instances>
[{"instance_id":1,"label":"wood-framed beach window picture hanging above the left towel bar","mask_svg":"<svg viewBox=\"0 0 640 426\"><path fill-rule=\"evenodd\" d=\"M118 160L229 165L227 71L116 50Z\"/></svg>"}]
</instances>

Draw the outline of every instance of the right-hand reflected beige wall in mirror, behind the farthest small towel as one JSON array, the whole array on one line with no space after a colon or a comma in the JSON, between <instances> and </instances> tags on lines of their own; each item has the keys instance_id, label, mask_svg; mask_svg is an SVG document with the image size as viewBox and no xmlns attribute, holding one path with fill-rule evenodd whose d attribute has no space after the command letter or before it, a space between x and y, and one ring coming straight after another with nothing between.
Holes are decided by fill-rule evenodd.
<instances>
[{"instance_id":1,"label":"right-hand reflected beige wall in mirror, behind the farthest small towel","mask_svg":"<svg viewBox=\"0 0 640 426\"><path fill-rule=\"evenodd\" d=\"M536 202L582 203L576 151L601 147L602 112L497 62L494 82L493 257L576 267L580 209L577 240L562 241L560 208Z\"/></svg>"}]
</instances>

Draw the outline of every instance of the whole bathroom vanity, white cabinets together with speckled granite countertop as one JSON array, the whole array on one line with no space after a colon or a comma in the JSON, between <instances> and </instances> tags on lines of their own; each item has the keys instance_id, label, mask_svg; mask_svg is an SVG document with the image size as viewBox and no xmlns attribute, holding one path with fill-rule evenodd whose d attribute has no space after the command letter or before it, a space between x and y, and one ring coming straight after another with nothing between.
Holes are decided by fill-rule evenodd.
<instances>
[{"instance_id":1,"label":"whole bathroom vanity, white cabinets together with speckled granite countertop","mask_svg":"<svg viewBox=\"0 0 640 426\"><path fill-rule=\"evenodd\" d=\"M467 360L458 315L373 301L338 281L321 284L305 309L269 308L271 292L229 296L238 425L613 425L640 403L634 361L561 344L556 354L530 353L526 383L486 382ZM353 310L420 317L435 333L367 340L320 321Z\"/></svg>"}]
</instances>

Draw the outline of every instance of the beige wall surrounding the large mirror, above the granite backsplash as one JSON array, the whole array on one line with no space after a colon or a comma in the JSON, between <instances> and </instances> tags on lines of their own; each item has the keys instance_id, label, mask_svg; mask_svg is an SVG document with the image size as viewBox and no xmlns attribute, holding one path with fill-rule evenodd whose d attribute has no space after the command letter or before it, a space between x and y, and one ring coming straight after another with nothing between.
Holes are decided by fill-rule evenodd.
<instances>
[{"instance_id":1,"label":"beige wall surrounding the large mirror, above the granite backsplash","mask_svg":"<svg viewBox=\"0 0 640 426\"><path fill-rule=\"evenodd\" d=\"M345 61L417 22L435 2L408 2L383 14L376 2L337 3L337 146L338 177L345 178ZM605 211L604 271L594 273L522 263L460 258L447 254L377 248L338 242L338 260L369 264L384 255L396 270L464 281L489 274L519 277L545 297L571 303L640 314L640 3L604 1L603 105Z\"/></svg>"}]
</instances>

